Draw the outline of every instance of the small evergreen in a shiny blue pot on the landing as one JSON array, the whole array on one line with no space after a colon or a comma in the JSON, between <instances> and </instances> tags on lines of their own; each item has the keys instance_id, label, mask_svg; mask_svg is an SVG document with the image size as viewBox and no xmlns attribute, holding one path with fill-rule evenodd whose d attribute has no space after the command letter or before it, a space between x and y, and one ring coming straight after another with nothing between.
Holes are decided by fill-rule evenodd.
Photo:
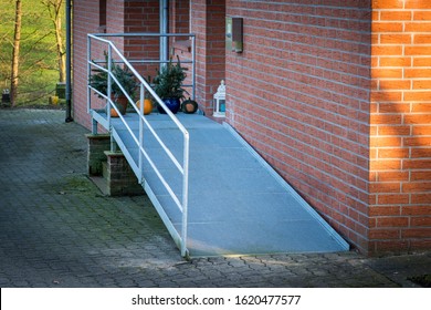
<instances>
[{"instance_id":1,"label":"small evergreen in a shiny blue pot on the landing","mask_svg":"<svg viewBox=\"0 0 431 310\"><path fill-rule=\"evenodd\" d=\"M182 68L179 58L177 63L169 60L167 64L157 70L157 75L153 80L155 92L168 106L172 113L177 113L180 108L180 100L185 97L186 90L182 89L182 82L186 80L186 70ZM166 113L161 106L157 106L160 113Z\"/></svg>"}]
</instances>

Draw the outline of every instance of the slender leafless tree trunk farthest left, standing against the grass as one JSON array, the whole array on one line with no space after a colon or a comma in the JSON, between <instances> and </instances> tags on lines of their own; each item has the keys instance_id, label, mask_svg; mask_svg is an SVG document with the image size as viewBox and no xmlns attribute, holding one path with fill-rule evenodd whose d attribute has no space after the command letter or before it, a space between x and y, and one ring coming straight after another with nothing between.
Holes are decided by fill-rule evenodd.
<instances>
[{"instance_id":1,"label":"slender leafless tree trunk farthest left, standing against the grass","mask_svg":"<svg viewBox=\"0 0 431 310\"><path fill-rule=\"evenodd\" d=\"M10 83L10 99L11 99L12 106L17 104L17 99L18 99L21 19L22 19L22 3L21 0L15 0L15 29L13 34L12 70L11 70L12 73L11 73L11 83Z\"/></svg>"}]
</instances>

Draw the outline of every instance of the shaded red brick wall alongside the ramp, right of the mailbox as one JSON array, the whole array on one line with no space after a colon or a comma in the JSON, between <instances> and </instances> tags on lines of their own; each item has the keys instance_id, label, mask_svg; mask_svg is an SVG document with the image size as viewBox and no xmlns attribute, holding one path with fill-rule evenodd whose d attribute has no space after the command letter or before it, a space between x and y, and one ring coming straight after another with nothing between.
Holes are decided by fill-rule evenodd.
<instances>
[{"instance_id":1,"label":"shaded red brick wall alongside the ramp, right of the mailbox","mask_svg":"<svg viewBox=\"0 0 431 310\"><path fill-rule=\"evenodd\" d=\"M370 1L228 0L228 122L324 217L368 250Z\"/></svg>"}]
</instances>

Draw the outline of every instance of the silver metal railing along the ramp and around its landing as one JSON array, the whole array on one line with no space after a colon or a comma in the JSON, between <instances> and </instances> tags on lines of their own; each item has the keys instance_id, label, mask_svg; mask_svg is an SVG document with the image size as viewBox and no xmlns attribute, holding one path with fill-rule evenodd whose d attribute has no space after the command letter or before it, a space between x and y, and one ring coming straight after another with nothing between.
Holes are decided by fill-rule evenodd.
<instances>
[{"instance_id":1,"label":"silver metal railing along the ramp and around its landing","mask_svg":"<svg viewBox=\"0 0 431 310\"><path fill-rule=\"evenodd\" d=\"M162 102L162 100L156 94L156 92L153 90L150 84L141 78L141 75L135 70L135 68L130 64L130 61L128 61L123 53L118 50L118 48L115 45L114 42L111 40L107 40L105 38L109 37L149 37L149 38L169 38L169 37L182 37L182 38L189 38L191 40L191 61L188 61L188 63L191 63L192 66L192 95L195 96L195 35L193 34L160 34L160 33L120 33L120 34L88 34L87 35L87 70L88 70L88 79L92 75L93 69L102 70L103 72L107 73L107 93L104 94L96 89L94 89L88 81L88 87L87 87L87 110L88 113L93 111L92 108L92 92L96 93L98 96L103 97L106 101L106 121L108 124L108 128L112 127L112 121L111 121L111 108L114 108L124 126L127 128L127 132L130 134L133 141L136 143L139 149L139 156L138 156L138 179L139 183L144 182L144 157L149 163L167 192L169 193L170 197L177 205L178 209L182 214L182 227L181 227L181 234L178 236L180 239L180 250L182 256L187 256L187 227L188 227L188 197L189 197L189 132L186 130L186 127L179 122L179 120L176 117L176 115L166 106L166 104ZM106 45L107 49L107 60L106 61L94 61L92 60L92 44L93 41L97 41L104 45ZM99 63L107 62L105 66L101 65ZM141 61L134 61L134 63L140 62L140 63L167 63L168 61L159 60L141 60ZM140 101L140 107L136 105L134 100L132 99L132 95L128 94L125 90L125 87L120 84L118 79L115 76L115 74L112 71L112 64L113 63L122 63L123 65L127 66L128 70L135 75L135 79L138 81L140 85L139 91L139 101ZM123 92L123 94L127 97L129 104L137 111L138 117L139 117L139 133L136 135L134 131L132 130L130 125L127 123L127 120L119 113L117 106L113 103L113 100L111 97L112 94L112 84L115 83L118 89ZM144 115L144 99L145 93L148 92L153 99L157 102L159 106L164 108L166 112L166 115L176 124L179 132L181 132L183 137L183 156L182 156L182 163L180 163L175 155L172 154L171 149L167 147L167 145L164 143L161 137L157 134L157 131L151 126L151 124L148 122L147 117ZM144 143L144 128L145 126L148 128L148 131L153 134L153 136L156 138L156 141L159 143L159 145L162 147L165 153L168 155L170 161L174 163L174 165L177 167L178 172L182 176L182 190L181 190L181 197L178 197L177 194L174 192L171 186L168 184L166 178L164 177L160 169L155 164L155 161L153 161L151 156L148 154L148 152L145 149L145 143ZM169 228L169 227L168 227ZM171 229L174 228L174 224L171 224ZM171 231L172 232L172 231Z\"/></svg>"}]
</instances>

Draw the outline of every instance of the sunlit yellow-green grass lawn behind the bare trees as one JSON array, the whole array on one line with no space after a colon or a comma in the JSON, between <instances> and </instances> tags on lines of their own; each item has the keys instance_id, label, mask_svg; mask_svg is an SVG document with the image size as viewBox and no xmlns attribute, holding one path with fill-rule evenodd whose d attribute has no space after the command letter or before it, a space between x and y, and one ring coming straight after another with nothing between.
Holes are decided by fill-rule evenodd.
<instances>
[{"instance_id":1,"label":"sunlit yellow-green grass lawn behind the bare trees","mask_svg":"<svg viewBox=\"0 0 431 310\"><path fill-rule=\"evenodd\" d=\"M0 91L10 89L14 9L0 0ZM18 105L48 105L59 81L54 28L41 0L22 0L22 11Z\"/></svg>"}]
</instances>

